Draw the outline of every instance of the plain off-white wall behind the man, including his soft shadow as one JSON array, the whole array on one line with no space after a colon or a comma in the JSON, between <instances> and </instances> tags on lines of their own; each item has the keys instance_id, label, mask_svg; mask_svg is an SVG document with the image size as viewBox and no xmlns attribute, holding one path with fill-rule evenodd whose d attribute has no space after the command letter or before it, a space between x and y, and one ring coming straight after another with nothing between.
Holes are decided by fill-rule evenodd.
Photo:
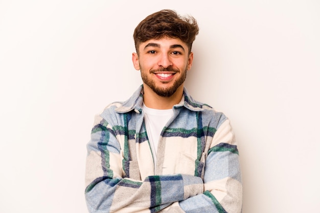
<instances>
[{"instance_id":1,"label":"plain off-white wall behind the man, including his soft shadow","mask_svg":"<svg viewBox=\"0 0 320 213\"><path fill-rule=\"evenodd\" d=\"M0 1L0 212L87 212L94 115L142 83L132 33L174 9L200 33L186 87L239 143L243 213L319 212L320 2Z\"/></svg>"}]
</instances>

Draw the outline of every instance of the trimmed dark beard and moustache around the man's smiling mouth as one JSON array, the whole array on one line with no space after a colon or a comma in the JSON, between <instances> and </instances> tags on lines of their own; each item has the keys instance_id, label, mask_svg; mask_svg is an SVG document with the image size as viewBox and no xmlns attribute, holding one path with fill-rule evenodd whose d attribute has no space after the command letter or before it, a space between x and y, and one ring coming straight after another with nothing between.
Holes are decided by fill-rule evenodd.
<instances>
[{"instance_id":1,"label":"trimmed dark beard and moustache around the man's smiling mouth","mask_svg":"<svg viewBox=\"0 0 320 213\"><path fill-rule=\"evenodd\" d=\"M175 73L180 73L179 70L174 69L172 67L168 67L168 68L162 68L162 69L157 69L157 70L150 70L150 74L154 73L154 72L175 72ZM174 74L175 75L175 74ZM148 78L148 74L144 74L143 72L141 72L141 78L142 81L149 86L158 96L161 97L171 97L175 91L179 88L179 86L181 86L187 77L187 68L185 69L185 72L182 73L182 75L173 83L172 86L170 87L160 87L157 86L156 83ZM168 82L162 82L163 84L167 84Z\"/></svg>"}]
</instances>

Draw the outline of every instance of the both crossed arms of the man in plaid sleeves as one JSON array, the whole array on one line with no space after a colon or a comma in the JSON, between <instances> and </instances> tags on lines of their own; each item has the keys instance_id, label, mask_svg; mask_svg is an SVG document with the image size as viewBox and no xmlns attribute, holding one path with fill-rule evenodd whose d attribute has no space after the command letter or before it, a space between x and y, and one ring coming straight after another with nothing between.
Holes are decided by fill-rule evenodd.
<instances>
[{"instance_id":1,"label":"both crossed arms of the man in plaid sleeves","mask_svg":"<svg viewBox=\"0 0 320 213\"><path fill-rule=\"evenodd\" d=\"M106 122L97 124L87 145L89 212L241 212L239 156L230 124L220 128L208 152L203 179L174 174L134 180L123 178L116 134Z\"/></svg>"}]
</instances>

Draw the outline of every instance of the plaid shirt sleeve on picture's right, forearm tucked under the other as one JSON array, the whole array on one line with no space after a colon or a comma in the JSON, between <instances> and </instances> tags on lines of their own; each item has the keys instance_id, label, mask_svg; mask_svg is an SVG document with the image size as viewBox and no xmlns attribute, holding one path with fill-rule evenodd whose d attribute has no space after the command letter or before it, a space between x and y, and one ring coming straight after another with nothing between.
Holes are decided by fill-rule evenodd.
<instances>
[{"instance_id":1,"label":"plaid shirt sleeve on picture's right, forearm tucked under the other","mask_svg":"<svg viewBox=\"0 0 320 213\"><path fill-rule=\"evenodd\" d=\"M217 129L205 160L204 192L180 201L182 210L211 213L240 213L242 183L239 152L230 121Z\"/></svg>"}]
</instances>

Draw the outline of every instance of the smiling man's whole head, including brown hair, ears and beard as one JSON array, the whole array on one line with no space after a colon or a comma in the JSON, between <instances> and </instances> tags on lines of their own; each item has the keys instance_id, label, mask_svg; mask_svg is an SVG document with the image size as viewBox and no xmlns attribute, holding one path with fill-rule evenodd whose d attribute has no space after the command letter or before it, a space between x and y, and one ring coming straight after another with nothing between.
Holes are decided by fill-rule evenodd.
<instances>
[{"instance_id":1,"label":"smiling man's whole head, including brown hair, ears and beard","mask_svg":"<svg viewBox=\"0 0 320 213\"><path fill-rule=\"evenodd\" d=\"M192 42L199 28L193 17L181 17L172 10L147 16L134 30L136 53L133 66L141 71L144 101L147 94L182 96L187 70L192 66Z\"/></svg>"}]
</instances>

